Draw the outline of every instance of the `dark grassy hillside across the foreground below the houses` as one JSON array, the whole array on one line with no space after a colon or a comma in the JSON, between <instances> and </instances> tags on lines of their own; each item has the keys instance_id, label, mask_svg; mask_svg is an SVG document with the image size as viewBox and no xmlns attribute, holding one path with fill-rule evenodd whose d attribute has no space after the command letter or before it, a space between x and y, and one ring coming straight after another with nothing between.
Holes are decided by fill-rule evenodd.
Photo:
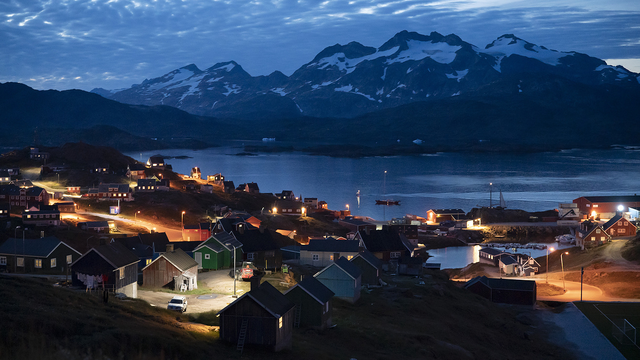
<instances>
[{"instance_id":1,"label":"dark grassy hillside across the foreground below the houses","mask_svg":"<svg viewBox=\"0 0 640 360\"><path fill-rule=\"evenodd\" d=\"M424 284L413 277L387 280L390 286L363 292L355 305L335 301L335 328L296 329L292 349L247 347L242 358L575 358L544 340L547 330L530 308L497 306L437 274ZM1 359L240 358L216 331L194 331L209 328L190 327L185 315L139 300L111 299L105 305L84 292L6 276L0 285ZM519 322L521 311L527 314ZM211 323L212 314L199 318Z\"/></svg>"}]
</instances>

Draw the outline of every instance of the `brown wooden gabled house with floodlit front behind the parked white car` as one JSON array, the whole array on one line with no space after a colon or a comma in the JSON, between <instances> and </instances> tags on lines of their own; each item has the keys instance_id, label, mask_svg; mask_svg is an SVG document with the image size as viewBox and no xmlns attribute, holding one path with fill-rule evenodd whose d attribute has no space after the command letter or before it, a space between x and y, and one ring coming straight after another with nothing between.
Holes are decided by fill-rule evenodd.
<instances>
[{"instance_id":1,"label":"brown wooden gabled house with floodlit front behind the parked white car","mask_svg":"<svg viewBox=\"0 0 640 360\"><path fill-rule=\"evenodd\" d=\"M198 263L181 249L167 245L167 251L142 269L145 288L168 287L175 291L198 288Z\"/></svg>"}]
</instances>

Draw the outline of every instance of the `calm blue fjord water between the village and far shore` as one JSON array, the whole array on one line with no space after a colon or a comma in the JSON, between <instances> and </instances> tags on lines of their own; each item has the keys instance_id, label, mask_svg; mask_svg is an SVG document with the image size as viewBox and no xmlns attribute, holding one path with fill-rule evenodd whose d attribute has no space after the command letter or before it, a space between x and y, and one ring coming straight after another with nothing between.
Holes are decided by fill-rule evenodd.
<instances>
[{"instance_id":1,"label":"calm blue fjord water between the village and far shore","mask_svg":"<svg viewBox=\"0 0 640 360\"><path fill-rule=\"evenodd\" d=\"M586 195L640 193L640 151L566 150L556 153L438 153L423 156L334 158L301 153L238 156L241 147L129 153L146 162L151 155L170 158L181 174L194 166L202 176L222 173L236 186L256 182L263 193L292 190L315 197L329 209L390 220L405 214L425 216L433 208L494 206L502 191L507 208L542 211ZM386 176L384 172L387 171ZM492 183L493 185L489 185ZM356 193L360 191L360 197ZM375 205L399 200L400 206ZM238 209L242 210L242 209Z\"/></svg>"}]
</instances>

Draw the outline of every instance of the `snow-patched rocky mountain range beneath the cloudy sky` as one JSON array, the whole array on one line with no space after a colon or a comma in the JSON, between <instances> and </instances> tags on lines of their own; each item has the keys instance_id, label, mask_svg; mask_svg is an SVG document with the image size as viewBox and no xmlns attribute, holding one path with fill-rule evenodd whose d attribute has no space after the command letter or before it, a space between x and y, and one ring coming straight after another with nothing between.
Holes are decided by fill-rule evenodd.
<instances>
[{"instance_id":1,"label":"snow-patched rocky mountain range beneath the cloudy sky","mask_svg":"<svg viewBox=\"0 0 640 360\"><path fill-rule=\"evenodd\" d=\"M109 96L129 104L169 105L216 117L355 117L416 101L487 91L505 79L560 77L589 86L640 91L638 74L576 52L561 52L503 35L484 49L456 35L402 31L378 48L333 45L291 76L252 77L230 61L200 70L191 64ZM495 91L495 90L492 90ZM533 91L533 90L531 90ZM483 95L491 95L483 93Z\"/></svg>"}]
</instances>

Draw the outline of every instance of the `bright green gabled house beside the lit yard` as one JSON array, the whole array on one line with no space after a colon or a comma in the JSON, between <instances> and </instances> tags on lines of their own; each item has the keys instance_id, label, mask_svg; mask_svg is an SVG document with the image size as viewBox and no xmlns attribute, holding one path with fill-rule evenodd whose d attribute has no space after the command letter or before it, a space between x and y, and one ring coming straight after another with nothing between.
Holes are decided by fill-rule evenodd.
<instances>
[{"instance_id":1,"label":"bright green gabled house beside the lit yard","mask_svg":"<svg viewBox=\"0 0 640 360\"><path fill-rule=\"evenodd\" d=\"M218 270L233 266L236 259L242 260L242 243L233 234L221 232L211 236L193 250L198 269Z\"/></svg>"}]
</instances>

